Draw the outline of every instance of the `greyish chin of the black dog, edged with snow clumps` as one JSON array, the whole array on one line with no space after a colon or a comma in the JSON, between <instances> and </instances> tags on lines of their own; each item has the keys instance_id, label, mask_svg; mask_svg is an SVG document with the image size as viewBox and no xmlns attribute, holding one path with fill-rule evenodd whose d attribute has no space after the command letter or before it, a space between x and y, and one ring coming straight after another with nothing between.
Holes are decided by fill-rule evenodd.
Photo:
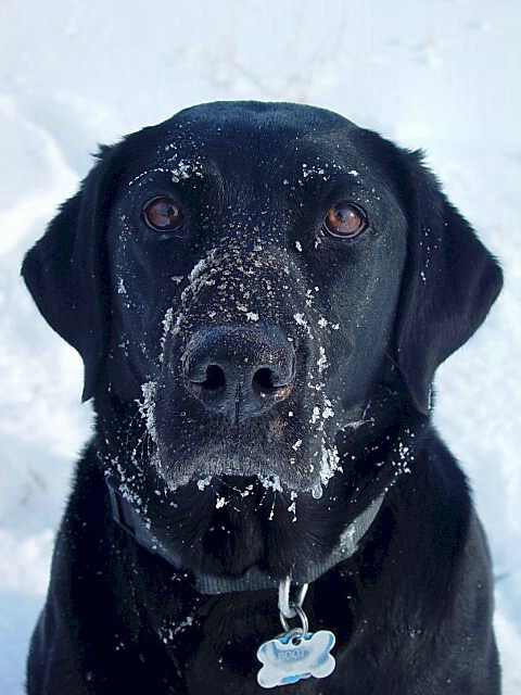
<instances>
[{"instance_id":1,"label":"greyish chin of the black dog, edged with snow clumps","mask_svg":"<svg viewBox=\"0 0 521 695\"><path fill-rule=\"evenodd\" d=\"M213 480L231 478L236 481L256 480L274 492L308 493L322 496L323 488L336 471L341 471L334 444L320 441L316 446L302 446L302 452L257 451L244 444L205 446L173 457L168 447L157 446L154 466L170 491L195 483L204 490Z\"/></svg>"}]
</instances>

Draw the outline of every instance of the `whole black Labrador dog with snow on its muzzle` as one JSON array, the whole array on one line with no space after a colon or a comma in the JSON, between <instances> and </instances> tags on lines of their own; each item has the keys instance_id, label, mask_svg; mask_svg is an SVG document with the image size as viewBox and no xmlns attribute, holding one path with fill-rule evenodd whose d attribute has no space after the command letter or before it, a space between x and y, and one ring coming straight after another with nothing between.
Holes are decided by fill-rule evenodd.
<instances>
[{"instance_id":1,"label":"whole black Labrador dog with snow on its muzzle","mask_svg":"<svg viewBox=\"0 0 521 695\"><path fill-rule=\"evenodd\" d=\"M23 274L97 412L29 693L499 692L430 391L501 275L418 153L189 109L103 149Z\"/></svg>"}]
</instances>

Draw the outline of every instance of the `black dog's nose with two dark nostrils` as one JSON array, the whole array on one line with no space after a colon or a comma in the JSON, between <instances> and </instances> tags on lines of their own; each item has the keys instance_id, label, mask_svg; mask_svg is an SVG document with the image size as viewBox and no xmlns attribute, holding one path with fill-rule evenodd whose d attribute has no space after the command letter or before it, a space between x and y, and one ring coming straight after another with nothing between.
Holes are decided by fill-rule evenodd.
<instances>
[{"instance_id":1,"label":"black dog's nose with two dark nostrils","mask_svg":"<svg viewBox=\"0 0 521 695\"><path fill-rule=\"evenodd\" d=\"M266 413L293 388L293 344L278 329L202 328L181 359L186 389L234 422Z\"/></svg>"}]
</instances>

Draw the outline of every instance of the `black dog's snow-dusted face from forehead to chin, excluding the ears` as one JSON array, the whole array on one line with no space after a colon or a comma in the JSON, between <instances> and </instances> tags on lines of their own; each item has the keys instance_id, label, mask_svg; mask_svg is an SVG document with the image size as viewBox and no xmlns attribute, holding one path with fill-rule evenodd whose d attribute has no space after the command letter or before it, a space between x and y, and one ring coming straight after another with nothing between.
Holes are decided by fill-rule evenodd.
<instances>
[{"instance_id":1,"label":"black dog's snow-dusted face from forehead to chin, excluding the ears","mask_svg":"<svg viewBox=\"0 0 521 695\"><path fill-rule=\"evenodd\" d=\"M382 367L405 216L355 126L339 148L340 117L293 109L189 110L130 150L111 352L140 382L170 488L256 476L320 496Z\"/></svg>"}]
</instances>

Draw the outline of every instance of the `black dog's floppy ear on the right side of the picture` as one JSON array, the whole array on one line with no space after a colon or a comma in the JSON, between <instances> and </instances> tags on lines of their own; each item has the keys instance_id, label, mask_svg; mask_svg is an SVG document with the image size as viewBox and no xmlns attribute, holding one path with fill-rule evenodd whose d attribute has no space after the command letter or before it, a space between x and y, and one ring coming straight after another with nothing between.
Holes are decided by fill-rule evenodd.
<instances>
[{"instance_id":1,"label":"black dog's floppy ear on the right side of the picture","mask_svg":"<svg viewBox=\"0 0 521 695\"><path fill-rule=\"evenodd\" d=\"M436 368L481 325L503 274L421 154L401 156L409 230L394 358L415 405L427 414Z\"/></svg>"}]
</instances>

